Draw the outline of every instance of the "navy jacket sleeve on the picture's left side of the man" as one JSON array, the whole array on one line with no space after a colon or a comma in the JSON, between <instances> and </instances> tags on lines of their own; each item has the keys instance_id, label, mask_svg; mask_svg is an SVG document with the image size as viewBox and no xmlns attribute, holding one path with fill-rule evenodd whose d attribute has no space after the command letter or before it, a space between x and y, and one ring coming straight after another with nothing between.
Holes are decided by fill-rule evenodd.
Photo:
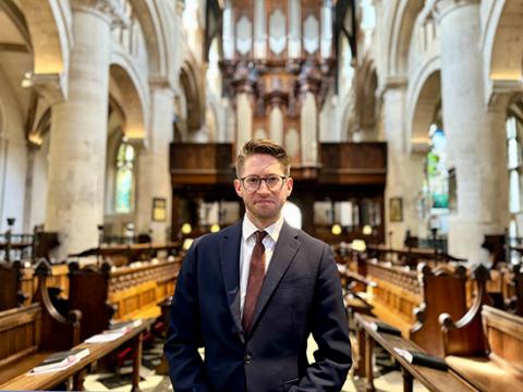
<instances>
[{"instance_id":1,"label":"navy jacket sleeve on the picture's left side of the man","mask_svg":"<svg viewBox=\"0 0 523 392\"><path fill-rule=\"evenodd\" d=\"M177 392L208 392L207 376L198 347L203 346L197 290L197 243L187 252L169 309L163 351Z\"/></svg>"}]
</instances>

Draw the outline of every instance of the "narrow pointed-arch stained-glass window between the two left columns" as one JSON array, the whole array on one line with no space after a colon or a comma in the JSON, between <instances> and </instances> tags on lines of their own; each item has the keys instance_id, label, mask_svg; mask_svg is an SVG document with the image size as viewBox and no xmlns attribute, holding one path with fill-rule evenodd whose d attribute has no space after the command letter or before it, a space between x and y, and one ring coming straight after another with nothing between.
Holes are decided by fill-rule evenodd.
<instances>
[{"instance_id":1,"label":"narrow pointed-arch stained-glass window between the two left columns","mask_svg":"<svg viewBox=\"0 0 523 392\"><path fill-rule=\"evenodd\" d=\"M114 212L129 213L134 203L135 151L123 140L117 154L117 175L114 184Z\"/></svg>"}]
</instances>

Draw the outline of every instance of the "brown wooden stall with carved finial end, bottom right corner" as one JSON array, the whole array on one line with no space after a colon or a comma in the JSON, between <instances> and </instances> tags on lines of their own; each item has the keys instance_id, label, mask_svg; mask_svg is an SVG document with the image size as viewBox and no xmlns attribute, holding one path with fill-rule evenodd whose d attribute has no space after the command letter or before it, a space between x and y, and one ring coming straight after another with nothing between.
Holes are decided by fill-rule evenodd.
<instances>
[{"instance_id":1,"label":"brown wooden stall with carved finial end, bottom right corner","mask_svg":"<svg viewBox=\"0 0 523 392\"><path fill-rule=\"evenodd\" d=\"M455 322L441 315L446 360L481 391L523 391L523 317L488 305L485 267L474 277L471 309Z\"/></svg>"}]
</instances>

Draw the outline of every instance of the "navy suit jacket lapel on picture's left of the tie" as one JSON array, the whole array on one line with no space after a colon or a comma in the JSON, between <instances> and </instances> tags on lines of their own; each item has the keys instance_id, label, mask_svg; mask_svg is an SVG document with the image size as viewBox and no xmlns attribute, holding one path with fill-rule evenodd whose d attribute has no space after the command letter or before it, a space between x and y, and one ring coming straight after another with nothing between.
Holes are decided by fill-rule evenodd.
<instances>
[{"instance_id":1,"label":"navy suit jacket lapel on picture's left of the tie","mask_svg":"<svg viewBox=\"0 0 523 392\"><path fill-rule=\"evenodd\" d=\"M227 302L238 333L242 336L242 317L240 315L240 242L242 221L223 231L220 240L220 264ZM242 336L243 340L243 336Z\"/></svg>"}]
</instances>

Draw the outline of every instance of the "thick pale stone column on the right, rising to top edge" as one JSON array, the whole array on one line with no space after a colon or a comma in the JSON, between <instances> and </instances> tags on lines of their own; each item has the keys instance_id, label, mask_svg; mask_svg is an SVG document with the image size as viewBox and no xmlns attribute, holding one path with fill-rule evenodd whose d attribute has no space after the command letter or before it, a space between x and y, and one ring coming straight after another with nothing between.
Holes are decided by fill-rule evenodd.
<instances>
[{"instance_id":1,"label":"thick pale stone column on the right, rising to top edge","mask_svg":"<svg viewBox=\"0 0 523 392\"><path fill-rule=\"evenodd\" d=\"M484 102L477 0L439 0L441 100L449 157L457 173L457 211L449 220L449 252L472 264L486 259L484 234L507 225L508 186L503 112Z\"/></svg>"}]
</instances>

